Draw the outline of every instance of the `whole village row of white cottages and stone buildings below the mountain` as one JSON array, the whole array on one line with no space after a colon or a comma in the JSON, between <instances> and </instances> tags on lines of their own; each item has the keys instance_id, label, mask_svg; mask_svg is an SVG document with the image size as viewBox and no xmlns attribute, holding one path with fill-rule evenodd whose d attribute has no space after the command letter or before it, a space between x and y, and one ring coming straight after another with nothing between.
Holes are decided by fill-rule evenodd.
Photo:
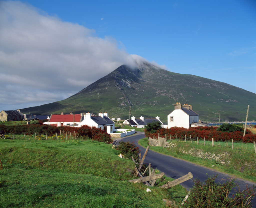
<instances>
[{"instance_id":1,"label":"whole village row of white cottages and stone buildings below the mountain","mask_svg":"<svg viewBox=\"0 0 256 208\"><path fill-rule=\"evenodd\" d=\"M125 137L135 133L135 130L127 131L127 129L116 129L115 121L120 122L124 125L130 125L132 127L144 128L148 123L152 122L160 122L163 128L171 128L174 126L177 127L196 127L196 126L208 126L199 120L199 115L193 111L193 106L188 104L174 104L174 110L167 115L168 123L163 123L160 120L159 116L155 118L144 118L141 116L140 118L136 118L132 116L127 120L121 120L121 118L110 118L108 113L100 112L98 115L93 113L80 113L74 114L70 112L70 114L51 114L50 116L37 116L33 114L23 114L20 110L11 110L11 111L1 111L0 121L27 121L29 124L30 120L35 119L47 119L47 122L44 122L45 125L51 126L73 126L73 127L81 127L83 125L87 125L90 127L96 127L104 130L111 137ZM115 133L122 132L122 133Z\"/></svg>"}]
</instances>

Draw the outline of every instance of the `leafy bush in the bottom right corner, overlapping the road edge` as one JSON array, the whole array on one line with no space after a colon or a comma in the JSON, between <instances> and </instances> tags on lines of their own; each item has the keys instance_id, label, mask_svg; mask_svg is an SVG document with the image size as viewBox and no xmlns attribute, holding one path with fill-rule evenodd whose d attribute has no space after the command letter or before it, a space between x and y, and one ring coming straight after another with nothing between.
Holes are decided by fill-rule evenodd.
<instances>
[{"instance_id":1,"label":"leafy bush in the bottom right corner, overlapping the road edge","mask_svg":"<svg viewBox=\"0 0 256 208\"><path fill-rule=\"evenodd\" d=\"M255 186L247 188L243 191L238 191L234 194L230 194L232 188L237 184L234 180L227 181L226 183L216 183L216 176L208 177L205 182L201 182L199 179L193 180L195 185L190 190L188 200L184 203L183 207L186 208L201 208L201 207L252 207L252 199L255 194Z\"/></svg>"}]
</instances>

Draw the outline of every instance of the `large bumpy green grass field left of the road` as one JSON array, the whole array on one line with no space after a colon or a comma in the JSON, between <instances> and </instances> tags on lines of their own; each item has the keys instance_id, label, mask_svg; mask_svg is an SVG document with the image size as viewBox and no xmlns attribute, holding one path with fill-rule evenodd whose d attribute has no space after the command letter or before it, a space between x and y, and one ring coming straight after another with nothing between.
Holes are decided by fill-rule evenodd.
<instances>
[{"instance_id":1,"label":"large bumpy green grass field left of the road","mask_svg":"<svg viewBox=\"0 0 256 208\"><path fill-rule=\"evenodd\" d=\"M97 141L0 140L0 207L166 207L186 195L131 183L134 163ZM162 185L173 179L157 181Z\"/></svg>"}]
</instances>

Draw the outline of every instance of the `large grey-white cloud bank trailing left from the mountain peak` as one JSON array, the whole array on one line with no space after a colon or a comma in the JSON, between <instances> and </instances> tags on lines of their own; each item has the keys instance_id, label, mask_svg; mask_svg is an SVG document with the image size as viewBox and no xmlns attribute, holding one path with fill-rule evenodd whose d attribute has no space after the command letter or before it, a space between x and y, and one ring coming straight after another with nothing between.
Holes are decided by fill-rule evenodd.
<instances>
[{"instance_id":1,"label":"large grey-white cloud bank trailing left from the mountain peak","mask_svg":"<svg viewBox=\"0 0 256 208\"><path fill-rule=\"evenodd\" d=\"M0 2L0 25L2 110L63 100L134 62L112 37L21 2Z\"/></svg>"}]
</instances>

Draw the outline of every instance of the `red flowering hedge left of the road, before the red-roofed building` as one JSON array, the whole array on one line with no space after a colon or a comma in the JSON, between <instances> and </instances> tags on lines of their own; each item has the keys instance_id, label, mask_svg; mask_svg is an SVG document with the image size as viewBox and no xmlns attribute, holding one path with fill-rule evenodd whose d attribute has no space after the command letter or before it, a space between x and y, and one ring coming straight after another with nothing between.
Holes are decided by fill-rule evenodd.
<instances>
[{"instance_id":1,"label":"red flowering hedge left of the road, before the red-roofed building","mask_svg":"<svg viewBox=\"0 0 256 208\"><path fill-rule=\"evenodd\" d=\"M40 124L33 124L33 125L17 125L17 126L5 126L0 125L0 130L3 130L5 133L8 134L24 134L26 132L26 135L31 135L34 133L37 134L46 134L48 135L54 135L54 134L60 134L60 132L64 131L64 134L67 132L71 133L77 133L80 137L86 138L89 137L92 140L96 141L103 141L108 143L112 142L112 139L110 138L110 135L103 130L96 128L96 127L90 127L87 125L81 126L81 127L71 127L71 126L50 126L50 125L40 125Z\"/></svg>"}]
</instances>

